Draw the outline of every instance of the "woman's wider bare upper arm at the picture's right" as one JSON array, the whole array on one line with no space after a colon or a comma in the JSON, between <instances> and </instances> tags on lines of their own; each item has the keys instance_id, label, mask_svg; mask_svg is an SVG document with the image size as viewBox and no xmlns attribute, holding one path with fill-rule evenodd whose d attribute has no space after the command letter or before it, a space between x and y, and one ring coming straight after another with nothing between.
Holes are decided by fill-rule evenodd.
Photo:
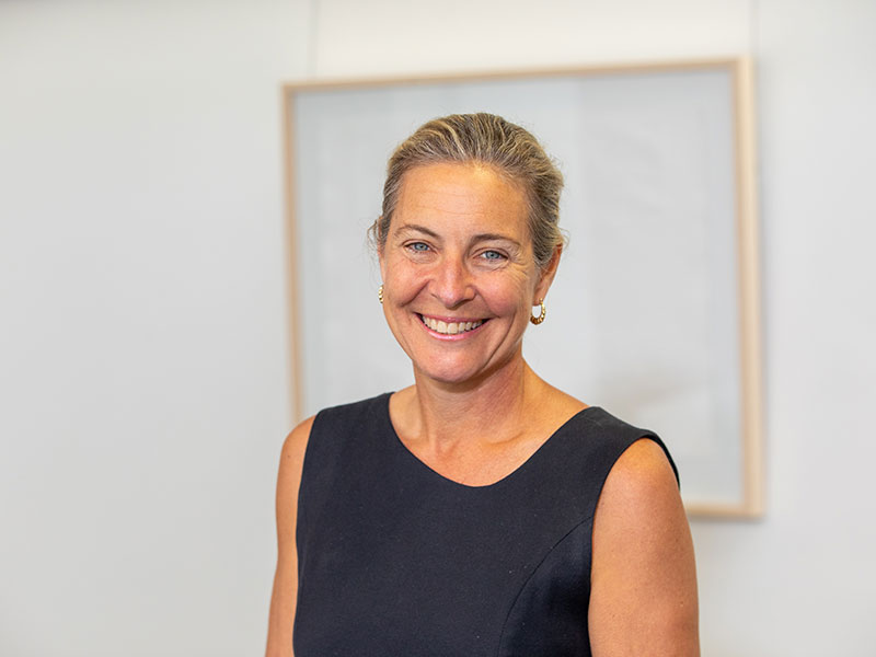
<instances>
[{"instance_id":1,"label":"woman's wider bare upper arm at the picture's right","mask_svg":"<svg viewBox=\"0 0 876 657\"><path fill-rule=\"evenodd\" d=\"M669 461L649 439L621 456L599 498L589 630L595 657L700 654L690 528Z\"/></svg>"}]
</instances>

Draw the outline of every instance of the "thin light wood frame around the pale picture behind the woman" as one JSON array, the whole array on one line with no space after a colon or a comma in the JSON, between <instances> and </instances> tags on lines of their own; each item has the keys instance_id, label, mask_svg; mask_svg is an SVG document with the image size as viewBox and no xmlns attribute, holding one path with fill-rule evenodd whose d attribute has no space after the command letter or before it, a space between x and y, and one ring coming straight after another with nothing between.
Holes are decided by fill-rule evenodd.
<instances>
[{"instance_id":1,"label":"thin light wood frame around the pale picture behind the woman","mask_svg":"<svg viewBox=\"0 0 876 657\"><path fill-rule=\"evenodd\" d=\"M763 438L761 391L761 341L759 247L756 194L756 150L752 65L745 58L695 61L665 61L598 67L517 70L419 78L376 78L356 80L319 80L292 82L281 88L283 136L285 152L286 231L288 253L289 350L293 391L293 415L301 418L303 404L302 309L298 262L299 218L296 216L296 125L295 100L301 94L321 90L397 89L436 83L484 82L489 80L526 80L560 77L627 76L648 72L727 71L733 85L733 142L736 193L736 262L738 267L739 403L741 413L741 496L726 504L700 504L685 500L692 516L718 518L756 518L763 514ZM400 135L399 138L404 137ZM379 391L374 391L379 392ZM682 473L683 475L683 473Z\"/></svg>"}]
</instances>

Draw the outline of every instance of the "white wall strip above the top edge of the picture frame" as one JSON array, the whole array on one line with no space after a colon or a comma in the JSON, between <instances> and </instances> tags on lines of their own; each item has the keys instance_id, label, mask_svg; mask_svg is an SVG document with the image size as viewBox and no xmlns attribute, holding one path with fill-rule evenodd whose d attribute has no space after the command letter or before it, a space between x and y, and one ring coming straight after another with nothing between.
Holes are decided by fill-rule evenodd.
<instances>
[{"instance_id":1,"label":"white wall strip above the top edge of the picture frame","mask_svg":"<svg viewBox=\"0 0 876 657\"><path fill-rule=\"evenodd\" d=\"M739 0L318 0L318 76L562 66L739 53Z\"/></svg>"}]
</instances>

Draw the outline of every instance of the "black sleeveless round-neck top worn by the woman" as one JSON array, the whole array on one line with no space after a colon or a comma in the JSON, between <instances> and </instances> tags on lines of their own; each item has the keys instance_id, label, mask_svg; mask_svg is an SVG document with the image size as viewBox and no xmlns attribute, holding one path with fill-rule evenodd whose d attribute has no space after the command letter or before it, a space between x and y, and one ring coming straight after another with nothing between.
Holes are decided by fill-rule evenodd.
<instances>
[{"instance_id":1,"label":"black sleeveless round-neck top worn by the woman","mask_svg":"<svg viewBox=\"0 0 876 657\"><path fill-rule=\"evenodd\" d=\"M505 479L466 486L399 440L389 397L313 423L298 503L296 657L590 655L599 494L627 447L647 437L666 450L659 438L591 406Z\"/></svg>"}]
</instances>

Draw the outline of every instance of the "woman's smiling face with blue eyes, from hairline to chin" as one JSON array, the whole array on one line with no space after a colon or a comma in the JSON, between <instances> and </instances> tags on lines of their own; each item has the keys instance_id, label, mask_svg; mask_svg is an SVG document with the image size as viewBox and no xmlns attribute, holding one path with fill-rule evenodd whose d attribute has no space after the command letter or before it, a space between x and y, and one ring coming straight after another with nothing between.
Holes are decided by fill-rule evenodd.
<instances>
[{"instance_id":1,"label":"woman's smiling face with blue eyes, from hairline to chin","mask_svg":"<svg viewBox=\"0 0 876 657\"><path fill-rule=\"evenodd\" d=\"M418 376L477 381L522 358L535 266L522 189L488 168L440 163L403 178L380 253L383 313Z\"/></svg>"}]
</instances>

